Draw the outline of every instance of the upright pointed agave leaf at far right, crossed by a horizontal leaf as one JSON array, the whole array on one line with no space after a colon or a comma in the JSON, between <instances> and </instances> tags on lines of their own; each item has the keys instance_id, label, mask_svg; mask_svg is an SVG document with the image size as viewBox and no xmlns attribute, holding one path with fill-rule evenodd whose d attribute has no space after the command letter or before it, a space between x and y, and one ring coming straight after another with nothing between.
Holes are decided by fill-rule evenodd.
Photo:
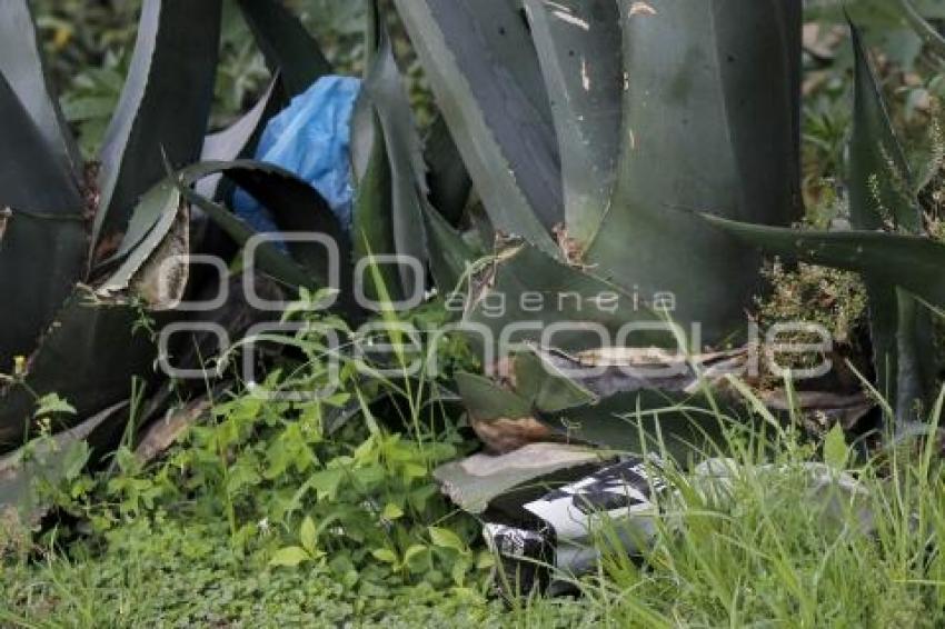
<instances>
[{"instance_id":1,"label":"upright pointed agave leaf at far right, crossed by a horizontal leaf","mask_svg":"<svg viewBox=\"0 0 945 629\"><path fill-rule=\"evenodd\" d=\"M859 31L850 24L855 56L854 128L849 143L850 223L861 230L919 234L922 210L908 163L896 139L876 73ZM869 297L874 367L879 390L903 420L914 401L928 400L935 380L929 312L895 283L864 274ZM918 395L916 398L915 396Z\"/></svg>"}]
</instances>

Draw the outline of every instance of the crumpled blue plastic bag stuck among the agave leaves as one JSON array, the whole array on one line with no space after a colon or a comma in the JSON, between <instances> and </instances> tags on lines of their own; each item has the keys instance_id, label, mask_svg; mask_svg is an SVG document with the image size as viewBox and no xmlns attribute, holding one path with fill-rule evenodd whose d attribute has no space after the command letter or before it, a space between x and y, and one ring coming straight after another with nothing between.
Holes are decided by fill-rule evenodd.
<instances>
[{"instance_id":1,"label":"crumpled blue plastic bag stuck among the agave leaves","mask_svg":"<svg viewBox=\"0 0 945 629\"><path fill-rule=\"evenodd\" d=\"M322 77L266 126L256 159L285 168L311 184L328 202L341 227L350 230L351 116L361 81ZM237 190L233 209L257 231L278 231L272 216L249 193Z\"/></svg>"}]
</instances>

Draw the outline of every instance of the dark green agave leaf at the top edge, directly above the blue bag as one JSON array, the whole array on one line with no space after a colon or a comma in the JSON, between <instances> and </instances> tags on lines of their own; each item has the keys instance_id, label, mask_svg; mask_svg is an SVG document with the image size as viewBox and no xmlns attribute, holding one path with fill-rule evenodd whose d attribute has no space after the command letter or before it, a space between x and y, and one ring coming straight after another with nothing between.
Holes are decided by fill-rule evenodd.
<instances>
[{"instance_id":1,"label":"dark green agave leaf at the top edge, directly above the blue bag","mask_svg":"<svg viewBox=\"0 0 945 629\"><path fill-rule=\"evenodd\" d=\"M239 0L240 9L269 69L282 77L289 97L332 72L318 42L282 0Z\"/></svg>"}]
</instances>

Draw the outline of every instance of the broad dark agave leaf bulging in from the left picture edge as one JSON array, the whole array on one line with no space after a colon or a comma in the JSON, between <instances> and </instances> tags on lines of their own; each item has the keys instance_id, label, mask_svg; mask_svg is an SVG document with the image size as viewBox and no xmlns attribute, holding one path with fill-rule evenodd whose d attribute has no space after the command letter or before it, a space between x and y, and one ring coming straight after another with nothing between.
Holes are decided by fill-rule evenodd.
<instances>
[{"instance_id":1,"label":"broad dark agave leaf bulging in from the left picture edge","mask_svg":"<svg viewBox=\"0 0 945 629\"><path fill-rule=\"evenodd\" d=\"M84 272L82 200L0 76L0 371L27 355Z\"/></svg>"}]
</instances>

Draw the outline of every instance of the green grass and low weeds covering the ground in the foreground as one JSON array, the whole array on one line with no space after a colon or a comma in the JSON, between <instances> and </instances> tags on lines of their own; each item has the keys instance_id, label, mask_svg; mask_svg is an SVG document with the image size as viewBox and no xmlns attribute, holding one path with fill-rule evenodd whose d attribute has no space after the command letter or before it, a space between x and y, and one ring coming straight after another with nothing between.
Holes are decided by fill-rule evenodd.
<instances>
[{"instance_id":1,"label":"green grass and low weeds covering the ground in the foreground","mask_svg":"<svg viewBox=\"0 0 945 629\"><path fill-rule=\"evenodd\" d=\"M206 510L210 495L191 493L196 505L159 498L160 507L100 535L62 529L8 558L0 618L17 627L941 627L937 443L857 460L836 432L819 450L790 431L738 435L727 480L670 471L679 492L663 500L641 561L615 550L619 523L610 522L598 531L600 569L579 581L580 597L511 608L488 596L486 567L469 566L462 582L445 573L480 552L461 521L442 526L456 526L470 548L444 561L430 550L430 563L415 570L352 552L354 543L320 541L318 559L273 567L272 549L295 539L291 527L257 528L261 541L235 545L223 510ZM817 463L813 475L819 459L833 467ZM855 491L840 490L840 480L854 479ZM246 517L247 506L237 511ZM427 522L410 519L392 535L416 542Z\"/></svg>"}]
</instances>

